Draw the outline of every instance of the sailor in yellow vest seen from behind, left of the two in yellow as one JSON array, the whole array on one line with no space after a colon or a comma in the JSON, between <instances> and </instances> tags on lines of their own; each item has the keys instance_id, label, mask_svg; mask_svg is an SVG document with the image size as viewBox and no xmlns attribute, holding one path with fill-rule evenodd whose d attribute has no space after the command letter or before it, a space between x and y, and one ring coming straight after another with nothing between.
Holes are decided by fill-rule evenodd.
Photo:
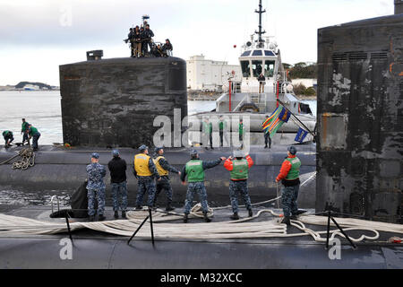
<instances>
[{"instance_id":1,"label":"sailor in yellow vest seen from behind, left of the two in yellow","mask_svg":"<svg viewBox=\"0 0 403 287\"><path fill-rule=\"evenodd\" d=\"M149 148L142 144L139 148L140 153L134 156L134 164L133 164L133 173L134 177L139 180L139 189L137 191L136 197L136 209L141 209L142 205L142 197L145 192L149 196L148 198L148 206L153 207L154 204L154 196L155 196L155 181L161 180L159 176L159 172L157 171L154 161L152 161L149 155Z\"/></svg>"}]
</instances>

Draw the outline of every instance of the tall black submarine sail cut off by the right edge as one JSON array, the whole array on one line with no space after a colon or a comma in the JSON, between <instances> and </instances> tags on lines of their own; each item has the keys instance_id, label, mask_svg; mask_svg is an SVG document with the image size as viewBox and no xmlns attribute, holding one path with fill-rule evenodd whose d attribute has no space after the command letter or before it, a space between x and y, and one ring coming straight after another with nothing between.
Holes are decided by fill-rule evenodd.
<instances>
[{"instance_id":1,"label":"tall black submarine sail cut off by the right edge","mask_svg":"<svg viewBox=\"0 0 403 287\"><path fill-rule=\"evenodd\" d=\"M403 14L395 4L395 15L318 30L317 212L402 222Z\"/></svg>"}]
</instances>

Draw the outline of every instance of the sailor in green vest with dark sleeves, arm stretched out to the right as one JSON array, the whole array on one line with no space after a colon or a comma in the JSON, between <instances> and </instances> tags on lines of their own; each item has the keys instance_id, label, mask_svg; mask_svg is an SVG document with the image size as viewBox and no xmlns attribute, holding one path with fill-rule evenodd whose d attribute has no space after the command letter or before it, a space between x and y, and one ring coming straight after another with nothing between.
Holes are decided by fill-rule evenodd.
<instances>
[{"instance_id":1,"label":"sailor in green vest with dark sleeves, arm stretched out to the right","mask_svg":"<svg viewBox=\"0 0 403 287\"><path fill-rule=\"evenodd\" d=\"M184 169L181 173L182 184L187 176L188 186L186 192L186 200L184 202L184 223L187 222L188 215L192 208L193 195L197 193L201 201L201 208L203 210L204 221L210 222L210 218L207 216L208 204L207 204L207 192L204 187L204 170L214 168L218 166L221 161L225 161L225 157L219 158L217 161L201 161L199 154L196 151L190 152L191 161L188 161L184 165Z\"/></svg>"}]
</instances>

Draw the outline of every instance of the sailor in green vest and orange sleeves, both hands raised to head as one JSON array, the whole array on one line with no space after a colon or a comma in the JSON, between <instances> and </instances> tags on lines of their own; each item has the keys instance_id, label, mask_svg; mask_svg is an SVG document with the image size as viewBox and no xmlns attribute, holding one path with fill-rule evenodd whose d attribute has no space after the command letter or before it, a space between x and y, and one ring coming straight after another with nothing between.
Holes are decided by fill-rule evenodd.
<instances>
[{"instance_id":1,"label":"sailor in green vest and orange sleeves, both hands raised to head","mask_svg":"<svg viewBox=\"0 0 403 287\"><path fill-rule=\"evenodd\" d=\"M253 166L253 160L248 154L244 158L244 152L235 151L234 157L230 157L224 162L224 168L229 170L231 180L229 181L229 198L231 199L233 215L230 216L233 220L238 220L238 193L244 199L244 204L248 210L249 217L253 215L251 198L248 194L248 175L249 169Z\"/></svg>"}]
</instances>

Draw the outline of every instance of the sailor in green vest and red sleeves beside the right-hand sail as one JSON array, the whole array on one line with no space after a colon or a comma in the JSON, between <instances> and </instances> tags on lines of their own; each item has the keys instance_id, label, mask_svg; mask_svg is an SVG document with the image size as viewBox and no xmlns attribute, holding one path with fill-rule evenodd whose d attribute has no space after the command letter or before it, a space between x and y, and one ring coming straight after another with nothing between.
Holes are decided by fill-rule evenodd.
<instances>
[{"instance_id":1,"label":"sailor in green vest and red sleeves beside the right-hand sail","mask_svg":"<svg viewBox=\"0 0 403 287\"><path fill-rule=\"evenodd\" d=\"M296 148L294 146L288 147L288 154L285 161L281 165L279 176L276 178L276 182L281 180L283 187L281 188L281 204L283 205L284 220L288 226L290 223L290 216L292 219L296 218L296 215L304 213L298 211L296 205L296 199L298 198L299 191L299 168L301 167L301 161L296 157Z\"/></svg>"}]
</instances>

